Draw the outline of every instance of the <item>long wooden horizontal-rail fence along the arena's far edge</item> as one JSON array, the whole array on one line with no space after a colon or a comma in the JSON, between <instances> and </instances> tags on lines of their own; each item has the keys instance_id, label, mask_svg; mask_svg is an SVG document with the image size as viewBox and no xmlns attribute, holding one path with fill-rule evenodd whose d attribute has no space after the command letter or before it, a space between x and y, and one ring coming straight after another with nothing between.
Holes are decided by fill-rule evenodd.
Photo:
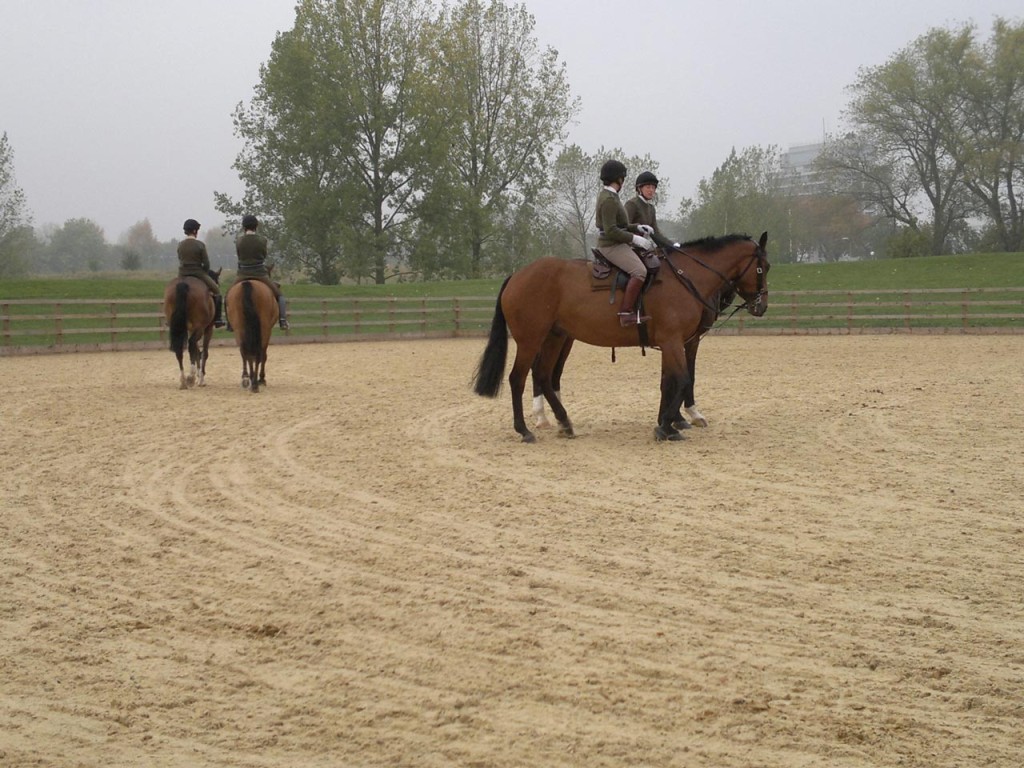
<instances>
[{"instance_id":1,"label":"long wooden horizontal-rail fence along the arena's far edge","mask_svg":"<svg viewBox=\"0 0 1024 768\"><path fill-rule=\"evenodd\" d=\"M291 299L273 343L485 336L494 296ZM730 310L731 311L731 310ZM768 312L728 311L714 334L1022 333L1024 288L773 291ZM161 300L0 299L0 354L168 343ZM218 331L214 345L233 345Z\"/></svg>"}]
</instances>

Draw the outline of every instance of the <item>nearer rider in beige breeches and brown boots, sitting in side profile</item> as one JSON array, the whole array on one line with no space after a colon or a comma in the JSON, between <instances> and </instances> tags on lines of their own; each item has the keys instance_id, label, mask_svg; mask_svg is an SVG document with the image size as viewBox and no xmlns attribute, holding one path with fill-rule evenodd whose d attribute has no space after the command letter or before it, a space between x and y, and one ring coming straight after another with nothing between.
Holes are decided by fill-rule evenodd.
<instances>
[{"instance_id":1,"label":"nearer rider in beige breeches and brown boots, sitting in side profile","mask_svg":"<svg viewBox=\"0 0 1024 768\"><path fill-rule=\"evenodd\" d=\"M647 267L633 250L634 247L651 251L654 243L639 231L636 224L629 222L626 209L618 199L618 191L626 183L626 166L617 160L609 160L601 166L601 191L597 195L597 250L604 258L630 275L623 303L618 307L618 323L624 328L637 326L650 317L640 316L637 299L647 276Z\"/></svg>"}]
</instances>

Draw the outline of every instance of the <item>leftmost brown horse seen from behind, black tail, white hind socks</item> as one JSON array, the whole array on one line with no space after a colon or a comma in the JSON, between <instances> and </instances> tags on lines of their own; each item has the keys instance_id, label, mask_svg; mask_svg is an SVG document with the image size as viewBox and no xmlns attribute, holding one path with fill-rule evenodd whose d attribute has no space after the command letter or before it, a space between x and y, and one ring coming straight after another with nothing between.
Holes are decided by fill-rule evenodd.
<instances>
[{"instance_id":1,"label":"leftmost brown horse seen from behind, black tail, white hind socks","mask_svg":"<svg viewBox=\"0 0 1024 768\"><path fill-rule=\"evenodd\" d=\"M220 269L209 274L220 282ZM164 289L164 321L170 335L170 349L178 358L180 389L197 384L206 386L206 360L213 337L213 294L199 278L175 278ZM203 347L200 348L200 339ZM188 374L184 370L184 350L188 347Z\"/></svg>"}]
</instances>

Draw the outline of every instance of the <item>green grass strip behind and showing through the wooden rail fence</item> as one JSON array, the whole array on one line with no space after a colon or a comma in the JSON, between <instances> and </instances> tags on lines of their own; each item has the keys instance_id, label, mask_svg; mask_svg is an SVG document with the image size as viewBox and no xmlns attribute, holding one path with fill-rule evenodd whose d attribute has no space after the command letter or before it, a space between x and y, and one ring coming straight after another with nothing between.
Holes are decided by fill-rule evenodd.
<instances>
[{"instance_id":1,"label":"green grass strip behind and showing through the wooden rail fence","mask_svg":"<svg viewBox=\"0 0 1024 768\"><path fill-rule=\"evenodd\" d=\"M153 341L170 280L126 272L2 281L0 305L33 302L0 307L2 333L15 346ZM769 311L753 321L762 330L1019 328L1024 316L1024 254L777 264L768 282ZM286 285L285 294L300 337L479 334L489 328L501 283L302 284ZM751 321L740 314L730 322Z\"/></svg>"}]
</instances>

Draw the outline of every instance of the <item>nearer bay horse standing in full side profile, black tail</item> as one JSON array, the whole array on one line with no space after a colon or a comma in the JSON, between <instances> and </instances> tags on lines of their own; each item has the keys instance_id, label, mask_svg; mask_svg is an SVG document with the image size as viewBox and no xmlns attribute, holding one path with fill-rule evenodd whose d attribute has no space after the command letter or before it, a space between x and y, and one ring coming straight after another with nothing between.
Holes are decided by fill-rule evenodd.
<instances>
[{"instance_id":1,"label":"nearer bay horse standing in full side profile, black tail","mask_svg":"<svg viewBox=\"0 0 1024 768\"><path fill-rule=\"evenodd\" d=\"M745 234L705 238L662 258L662 278L644 296L646 344L662 351L662 397L656 440L680 440L673 425L687 391L692 394L692 342L717 313L726 294L738 294L742 307L760 317L768 308L768 232L755 242ZM639 346L637 328L623 328L616 307L606 292L593 291L588 261L546 257L506 278L498 293L490 333L474 375L473 389L496 397L508 356L508 337L516 341L516 355L508 375L512 388L512 422L524 442L536 436L526 427L522 394L526 374L532 371L559 425L572 437L568 414L555 394L553 376L559 358L564 366L566 339L603 347ZM687 349L689 345L689 350ZM567 354L567 352L566 352ZM560 374L559 374L560 375Z\"/></svg>"}]
</instances>

